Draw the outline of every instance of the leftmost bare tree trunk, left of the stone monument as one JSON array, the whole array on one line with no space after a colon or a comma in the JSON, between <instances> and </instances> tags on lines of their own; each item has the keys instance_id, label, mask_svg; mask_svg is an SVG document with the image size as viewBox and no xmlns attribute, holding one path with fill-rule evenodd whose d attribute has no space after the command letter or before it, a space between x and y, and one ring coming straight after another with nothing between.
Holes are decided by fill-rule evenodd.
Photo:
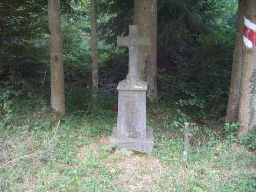
<instances>
[{"instance_id":1,"label":"leftmost bare tree trunk, left of the stone monument","mask_svg":"<svg viewBox=\"0 0 256 192\"><path fill-rule=\"evenodd\" d=\"M51 106L57 112L65 115L63 46L59 0L48 0L48 17L50 29Z\"/></svg>"}]
</instances>

